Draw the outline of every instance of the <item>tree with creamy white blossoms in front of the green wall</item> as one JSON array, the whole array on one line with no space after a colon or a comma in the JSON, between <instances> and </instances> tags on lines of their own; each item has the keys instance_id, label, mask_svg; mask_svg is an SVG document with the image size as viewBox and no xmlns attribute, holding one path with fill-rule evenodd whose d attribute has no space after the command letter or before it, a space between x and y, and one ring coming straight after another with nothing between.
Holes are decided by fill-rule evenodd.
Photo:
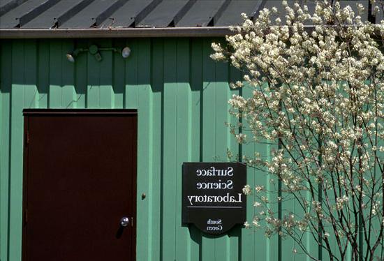
<instances>
[{"instance_id":1,"label":"tree with creamy white blossoms in front of the green wall","mask_svg":"<svg viewBox=\"0 0 384 261\"><path fill-rule=\"evenodd\" d=\"M384 1L371 4L384 11ZM338 1L317 1L313 14L283 6L285 24L264 9L254 22L243 15L226 46L212 44L213 59L244 72L231 87L251 89L229 100L239 119L231 132L240 144L276 144L270 155L242 156L276 180L244 187L259 199L245 225L290 237L313 260L303 234L330 260L384 260L384 21L362 22L360 4L357 14ZM276 211L287 200L300 211Z\"/></svg>"}]
</instances>

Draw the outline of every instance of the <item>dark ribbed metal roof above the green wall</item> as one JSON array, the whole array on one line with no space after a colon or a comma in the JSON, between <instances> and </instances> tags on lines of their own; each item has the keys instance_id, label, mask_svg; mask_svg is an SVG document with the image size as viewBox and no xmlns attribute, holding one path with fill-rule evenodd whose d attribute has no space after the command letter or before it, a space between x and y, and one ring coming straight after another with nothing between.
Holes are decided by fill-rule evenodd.
<instances>
[{"instance_id":1,"label":"dark ribbed metal roof above the green wall","mask_svg":"<svg viewBox=\"0 0 384 261\"><path fill-rule=\"evenodd\" d=\"M294 2L290 0L288 4ZM299 2L314 9L313 0ZM356 9L356 3L362 3L368 8L368 2L341 1L341 6L348 4ZM68 32L77 29L92 29L97 34L105 31L105 37L111 34L107 30L135 31L135 35L140 34L138 30L144 34L151 31L156 36L156 32L164 29L184 34L186 29L195 30L190 32L191 36L196 36L196 32L201 36L209 33L217 36L229 33L226 27L241 24L241 13L255 19L260 10L272 6L283 13L280 0L0 0L0 38L32 36L33 32L44 30L45 37L50 37L50 33L52 37L71 37ZM284 20L284 15L281 19ZM368 14L362 17L367 19ZM88 34L91 33L84 33Z\"/></svg>"}]
</instances>

